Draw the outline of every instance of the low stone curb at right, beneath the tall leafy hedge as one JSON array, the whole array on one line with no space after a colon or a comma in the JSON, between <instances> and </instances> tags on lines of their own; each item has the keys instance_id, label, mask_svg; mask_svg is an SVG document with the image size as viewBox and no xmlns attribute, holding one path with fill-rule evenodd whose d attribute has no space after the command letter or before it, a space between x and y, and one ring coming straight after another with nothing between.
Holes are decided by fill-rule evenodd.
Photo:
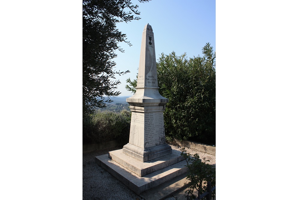
<instances>
[{"instance_id":1,"label":"low stone curb at right, beneath the tall leafy hedge","mask_svg":"<svg viewBox=\"0 0 300 200\"><path fill-rule=\"evenodd\" d=\"M185 141L185 140L179 141L178 139L174 139L171 144L196 149L200 152L207 153L207 154L216 155L216 147L201 144L199 142L190 142L190 141Z\"/></svg>"}]
</instances>

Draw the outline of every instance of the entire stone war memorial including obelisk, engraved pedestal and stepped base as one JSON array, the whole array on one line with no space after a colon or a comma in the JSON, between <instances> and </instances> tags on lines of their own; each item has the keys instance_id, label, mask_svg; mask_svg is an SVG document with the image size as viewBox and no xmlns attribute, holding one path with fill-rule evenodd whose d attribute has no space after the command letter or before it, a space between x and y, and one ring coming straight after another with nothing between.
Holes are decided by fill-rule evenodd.
<instances>
[{"instance_id":1,"label":"entire stone war memorial including obelisk, engraved pedestal and stepped base","mask_svg":"<svg viewBox=\"0 0 300 200\"><path fill-rule=\"evenodd\" d=\"M126 101L131 109L129 143L123 149L95 157L95 162L140 194L182 175L187 167L180 151L165 140L164 109L168 99L158 92L152 27L143 31L136 93Z\"/></svg>"}]
</instances>

